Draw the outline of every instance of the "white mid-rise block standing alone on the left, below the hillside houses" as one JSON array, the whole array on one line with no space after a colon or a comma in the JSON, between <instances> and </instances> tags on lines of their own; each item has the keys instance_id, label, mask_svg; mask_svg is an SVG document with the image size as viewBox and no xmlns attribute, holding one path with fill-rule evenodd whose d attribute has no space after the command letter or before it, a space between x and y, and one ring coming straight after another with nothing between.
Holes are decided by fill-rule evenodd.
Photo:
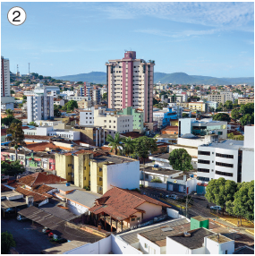
<instances>
[{"instance_id":1,"label":"white mid-rise block standing alone on the left, below the hillside houses","mask_svg":"<svg viewBox=\"0 0 255 256\"><path fill-rule=\"evenodd\" d=\"M34 90L27 98L28 123L54 117L54 97L47 95L47 89Z\"/></svg>"}]
</instances>

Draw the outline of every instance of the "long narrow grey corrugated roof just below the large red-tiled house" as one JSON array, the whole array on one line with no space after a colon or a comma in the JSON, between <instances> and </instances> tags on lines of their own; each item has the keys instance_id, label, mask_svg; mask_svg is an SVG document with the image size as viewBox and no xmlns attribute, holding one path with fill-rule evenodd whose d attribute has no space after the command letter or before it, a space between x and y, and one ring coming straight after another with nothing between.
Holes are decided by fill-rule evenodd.
<instances>
[{"instance_id":1,"label":"long narrow grey corrugated roof just below the large red-tiled house","mask_svg":"<svg viewBox=\"0 0 255 256\"><path fill-rule=\"evenodd\" d=\"M140 233L148 232L153 229L157 229L158 227L161 227L161 226L172 226L173 227L173 226L183 225L183 224L187 224L187 223L189 223L189 221L186 218L171 219L171 220L167 220L164 222L160 222L159 224L156 224L156 225L141 227L141 228L123 233L119 236L126 243L129 243L129 244L138 243L139 239L137 238L137 235Z\"/></svg>"}]
</instances>

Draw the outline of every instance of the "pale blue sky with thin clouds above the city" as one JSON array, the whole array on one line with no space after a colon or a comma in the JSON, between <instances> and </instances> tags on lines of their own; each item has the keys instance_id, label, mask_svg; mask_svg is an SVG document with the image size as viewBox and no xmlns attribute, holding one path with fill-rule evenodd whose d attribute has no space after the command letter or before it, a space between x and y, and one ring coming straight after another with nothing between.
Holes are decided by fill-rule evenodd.
<instances>
[{"instance_id":1,"label":"pale blue sky with thin clouds above the city","mask_svg":"<svg viewBox=\"0 0 255 256\"><path fill-rule=\"evenodd\" d=\"M1 55L21 73L106 72L124 49L155 60L156 72L254 75L253 3L2 3ZM13 6L27 20L7 21Z\"/></svg>"}]
</instances>

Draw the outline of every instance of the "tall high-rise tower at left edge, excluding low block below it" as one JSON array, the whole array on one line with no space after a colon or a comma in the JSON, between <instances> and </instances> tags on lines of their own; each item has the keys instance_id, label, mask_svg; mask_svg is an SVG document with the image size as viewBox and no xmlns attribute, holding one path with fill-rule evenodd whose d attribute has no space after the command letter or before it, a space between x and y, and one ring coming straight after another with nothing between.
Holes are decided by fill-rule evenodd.
<instances>
[{"instance_id":1,"label":"tall high-rise tower at left edge, excluding low block below it","mask_svg":"<svg viewBox=\"0 0 255 256\"><path fill-rule=\"evenodd\" d=\"M9 60L1 56L1 97L11 96Z\"/></svg>"}]
</instances>

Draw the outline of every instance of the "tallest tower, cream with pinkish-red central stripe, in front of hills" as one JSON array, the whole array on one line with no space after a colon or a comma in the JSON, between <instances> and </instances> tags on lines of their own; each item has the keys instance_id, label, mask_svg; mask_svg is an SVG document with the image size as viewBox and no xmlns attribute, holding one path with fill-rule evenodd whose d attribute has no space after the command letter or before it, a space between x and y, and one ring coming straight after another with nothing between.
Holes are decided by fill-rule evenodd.
<instances>
[{"instance_id":1,"label":"tallest tower, cream with pinkish-red central stripe, in front of hills","mask_svg":"<svg viewBox=\"0 0 255 256\"><path fill-rule=\"evenodd\" d=\"M154 61L137 59L134 51L126 51L123 59L109 60L106 63L108 107L142 110L144 122L152 123L154 65Z\"/></svg>"}]
</instances>

